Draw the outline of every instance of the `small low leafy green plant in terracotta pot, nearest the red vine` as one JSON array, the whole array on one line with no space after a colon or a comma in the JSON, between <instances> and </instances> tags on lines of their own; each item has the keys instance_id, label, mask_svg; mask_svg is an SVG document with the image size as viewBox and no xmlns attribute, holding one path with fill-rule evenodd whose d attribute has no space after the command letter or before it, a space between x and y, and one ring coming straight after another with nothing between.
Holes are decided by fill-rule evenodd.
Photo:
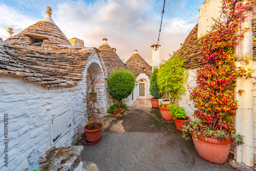
<instances>
[{"instance_id":1,"label":"small low leafy green plant in terracotta pot, nearest the red vine","mask_svg":"<svg viewBox=\"0 0 256 171\"><path fill-rule=\"evenodd\" d=\"M185 121L189 120L189 117L186 115L184 107L178 106L177 104L169 105L170 115L174 116L175 126L177 131L182 131L182 127Z\"/></svg>"}]
</instances>

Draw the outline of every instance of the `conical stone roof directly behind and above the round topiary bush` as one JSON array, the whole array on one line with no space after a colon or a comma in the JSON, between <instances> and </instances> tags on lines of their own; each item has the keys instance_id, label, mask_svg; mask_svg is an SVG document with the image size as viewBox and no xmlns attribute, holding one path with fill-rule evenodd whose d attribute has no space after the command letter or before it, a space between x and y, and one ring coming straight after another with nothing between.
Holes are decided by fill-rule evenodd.
<instances>
[{"instance_id":1,"label":"conical stone roof directly behind and above the round topiary bush","mask_svg":"<svg viewBox=\"0 0 256 171\"><path fill-rule=\"evenodd\" d=\"M106 42L106 38L103 38L104 42L103 44L98 48L101 52L101 56L103 58L103 61L105 63L106 70L110 74L115 69L123 68L127 69L123 63L123 61L120 59L120 57L116 54L116 52L109 46L109 44Z\"/></svg>"}]
</instances>

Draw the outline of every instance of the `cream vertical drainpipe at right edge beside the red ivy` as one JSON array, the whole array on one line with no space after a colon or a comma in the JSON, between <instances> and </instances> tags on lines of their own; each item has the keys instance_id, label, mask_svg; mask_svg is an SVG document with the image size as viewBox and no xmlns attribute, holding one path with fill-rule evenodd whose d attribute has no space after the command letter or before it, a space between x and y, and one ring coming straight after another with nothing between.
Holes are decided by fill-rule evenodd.
<instances>
[{"instance_id":1,"label":"cream vertical drainpipe at right edge beside the red ivy","mask_svg":"<svg viewBox=\"0 0 256 171\"><path fill-rule=\"evenodd\" d=\"M243 3L247 3L245 0ZM242 23L241 28L251 26L251 11L246 11L245 15L248 17ZM234 47L236 55L247 57L249 64L237 61L237 66L245 67L246 69L252 68L252 30L248 30L244 34L244 38L239 45ZM244 90L240 96L239 90ZM235 89L235 99L238 100L238 110L235 119L235 126L237 133L244 135L244 144L236 147L236 161L243 162L246 166L253 167L253 84L252 79L245 79L245 77L238 78L237 87Z\"/></svg>"}]
</instances>

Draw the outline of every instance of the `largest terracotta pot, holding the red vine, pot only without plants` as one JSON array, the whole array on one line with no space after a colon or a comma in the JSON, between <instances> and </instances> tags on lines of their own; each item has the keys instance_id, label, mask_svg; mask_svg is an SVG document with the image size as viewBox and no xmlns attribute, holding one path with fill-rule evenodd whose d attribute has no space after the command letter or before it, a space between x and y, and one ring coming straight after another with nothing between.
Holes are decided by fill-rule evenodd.
<instances>
[{"instance_id":1,"label":"largest terracotta pot, holding the red vine, pot only without plants","mask_svg":"<svg viewBox=\"0 0 256 171\"><path fill-rule=\"evenodd\" d=\"M218 139L209 137L206 140L202 135L198 135L197 137L199 139L198 141L195 140L195 136L192 134L197 154L202 159L214 164L224 164L227 161L232 143L231 138L219 141Z\"/></svg>"}]
</instances>

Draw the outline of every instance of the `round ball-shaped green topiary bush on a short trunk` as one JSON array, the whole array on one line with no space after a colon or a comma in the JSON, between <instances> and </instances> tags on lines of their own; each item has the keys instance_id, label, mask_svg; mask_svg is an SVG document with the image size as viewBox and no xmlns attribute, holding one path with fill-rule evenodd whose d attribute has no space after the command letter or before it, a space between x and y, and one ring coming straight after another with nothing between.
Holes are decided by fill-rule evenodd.
<instances>
[{"instance_id":1,"label":"round ball-shaped green topiary bush on a short trunk","mask_svg":"<svg viewBox=\"0 0 256 171\"><path fill-rule=\"evenodd\" d=\"M110 95L118 100L120 106L121 100L134 90L135 75L129 70L118 69L110 74L108 84Z\"/></svg>"}]
</instances>

